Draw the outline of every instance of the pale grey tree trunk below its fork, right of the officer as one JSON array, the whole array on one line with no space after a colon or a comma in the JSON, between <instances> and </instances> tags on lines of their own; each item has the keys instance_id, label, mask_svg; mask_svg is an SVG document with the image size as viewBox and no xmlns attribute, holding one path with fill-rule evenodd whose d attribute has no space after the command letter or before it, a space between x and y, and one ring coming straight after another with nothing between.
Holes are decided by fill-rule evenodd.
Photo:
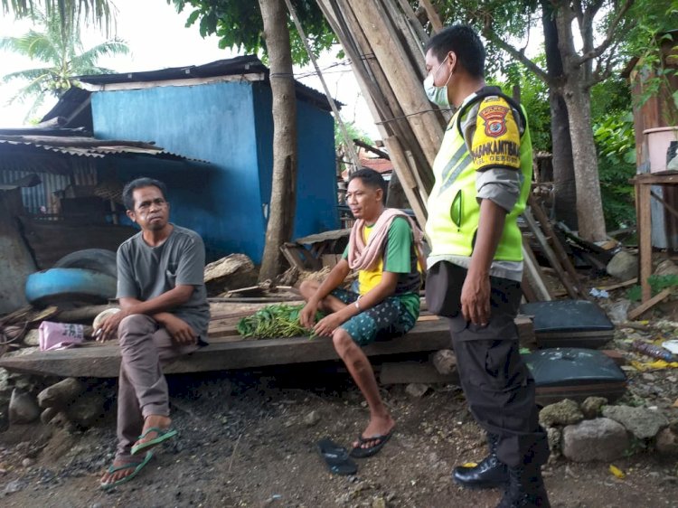
<instances>
[{"instance_id":1,"label":"pale grey tree trunk below its fork, right of the officer","mask_svg":"<svg viewBox=\"0 0 678 508\"><path fill-rule=\"evenodd\" d=\"M598 155L591 127L591 101L579 87L578 72L572 72L565 85L565 103L570 118L574 174L577 183L577 217L579 236L584 240L603 241L607 234L603 217L598 178Z\"/></svg>"}]
</instances>

